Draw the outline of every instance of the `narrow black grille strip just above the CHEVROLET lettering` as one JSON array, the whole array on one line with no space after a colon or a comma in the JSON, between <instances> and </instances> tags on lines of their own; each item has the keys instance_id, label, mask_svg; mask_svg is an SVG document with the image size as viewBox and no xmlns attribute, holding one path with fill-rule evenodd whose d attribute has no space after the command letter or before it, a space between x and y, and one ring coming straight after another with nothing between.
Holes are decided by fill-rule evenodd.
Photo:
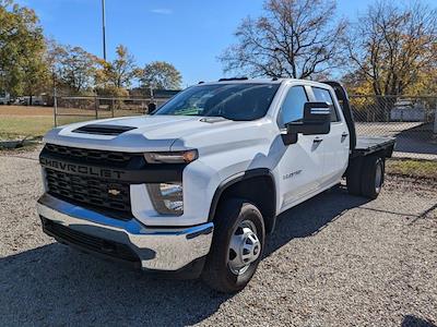
<instances>
[{"instance_id":1,"label":"narrow black grille strip just above the CHEVROLET lettering","mask_svg":"<svg viewBox=\"0 0 437 327\"><path fill-rule=\"evenodd\" d=\"M133 157L142 157L141 154L119 152L95 150L78 148L56 144L46 144L44 152L67 159L79 159L81 162L105 162L106 165L127 165Z\"/></svg>"}]
</instances>

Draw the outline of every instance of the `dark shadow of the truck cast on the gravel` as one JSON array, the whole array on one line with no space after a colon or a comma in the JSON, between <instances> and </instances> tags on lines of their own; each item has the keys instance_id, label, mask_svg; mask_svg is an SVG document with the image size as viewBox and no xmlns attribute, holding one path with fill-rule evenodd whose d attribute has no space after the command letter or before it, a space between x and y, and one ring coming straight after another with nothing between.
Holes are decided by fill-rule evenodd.
<instances>
[{"instance_id":1,"label":"dark shadow of the truck cast on the gravel","mask_svg":"<svg viewBox=\"0 0 437 327\"><path fill-rule=\"evenodd\" d=\"M265 256L365 202L338 190L288 210L281 215ZM232 298L199 280L151 279L58 243L0 258L0 326L192 325Z\"/></svg>"}]
</instances>

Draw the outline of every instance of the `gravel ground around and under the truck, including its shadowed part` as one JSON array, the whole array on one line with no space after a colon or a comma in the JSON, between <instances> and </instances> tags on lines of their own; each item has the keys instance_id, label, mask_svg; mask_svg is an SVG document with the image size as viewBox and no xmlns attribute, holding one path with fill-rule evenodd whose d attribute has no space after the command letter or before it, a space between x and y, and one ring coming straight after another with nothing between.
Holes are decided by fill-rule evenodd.
<instances>
[{"instance_id":1,"label":"gravel ground around and under the truck, including its shadowed part","mask_svg":"<svg viewBox=\"0 0 437 327\"><path fill-rule=\"evenodd\" d=\"M0 155L0 326L437 324L437 185L328 192L282 215L249 286L151 279L44 235L36 153Z\"/></svg>"}]
</instances>

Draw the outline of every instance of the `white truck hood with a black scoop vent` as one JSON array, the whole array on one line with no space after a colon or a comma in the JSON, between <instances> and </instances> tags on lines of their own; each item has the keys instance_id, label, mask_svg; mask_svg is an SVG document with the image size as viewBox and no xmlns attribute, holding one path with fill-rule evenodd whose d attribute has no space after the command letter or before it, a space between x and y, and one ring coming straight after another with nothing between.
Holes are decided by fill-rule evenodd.
<instances>
[{"instance_id":1,"label":"white truck hood with a black scoop vent","mask_svg":"<svg viewBox=\"0 0 437 327\"><path fill-rule=\"evenodd\" d=\"M229 121L222 118L202 118L187 116L139 116L105 119L73 123L59 126L48 132L44 141L64 146L108 149L118 152L170 150L172 145L180 138L193 134L203 134L213 130L228 129L245 122ZM110 125L114 128L132 128L119 135L104 135L75 131L80 128ZM217 141L220 142L220 141Z\"/></svg>"}]
</instances>

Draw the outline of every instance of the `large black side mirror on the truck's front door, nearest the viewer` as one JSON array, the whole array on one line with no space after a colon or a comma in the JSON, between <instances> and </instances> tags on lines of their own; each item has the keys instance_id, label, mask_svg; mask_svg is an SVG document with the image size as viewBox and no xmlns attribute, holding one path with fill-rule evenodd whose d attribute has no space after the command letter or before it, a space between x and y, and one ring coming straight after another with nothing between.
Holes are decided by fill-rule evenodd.
<instances>
[{"instance_id":1,"label":"large black side mirror on the truck's front door, nearest the viewer","mask_svg":"<svg viewBox=\"0 0 437 327\"><path fill-rule=\"evenodd\" d=\"M297 134L317 135L328 134L331 130L331 108L328 102L306 102L304 106L304 119L286 124L287 133L285 144L297 142Z\"/></svg>"}]
</instances>

